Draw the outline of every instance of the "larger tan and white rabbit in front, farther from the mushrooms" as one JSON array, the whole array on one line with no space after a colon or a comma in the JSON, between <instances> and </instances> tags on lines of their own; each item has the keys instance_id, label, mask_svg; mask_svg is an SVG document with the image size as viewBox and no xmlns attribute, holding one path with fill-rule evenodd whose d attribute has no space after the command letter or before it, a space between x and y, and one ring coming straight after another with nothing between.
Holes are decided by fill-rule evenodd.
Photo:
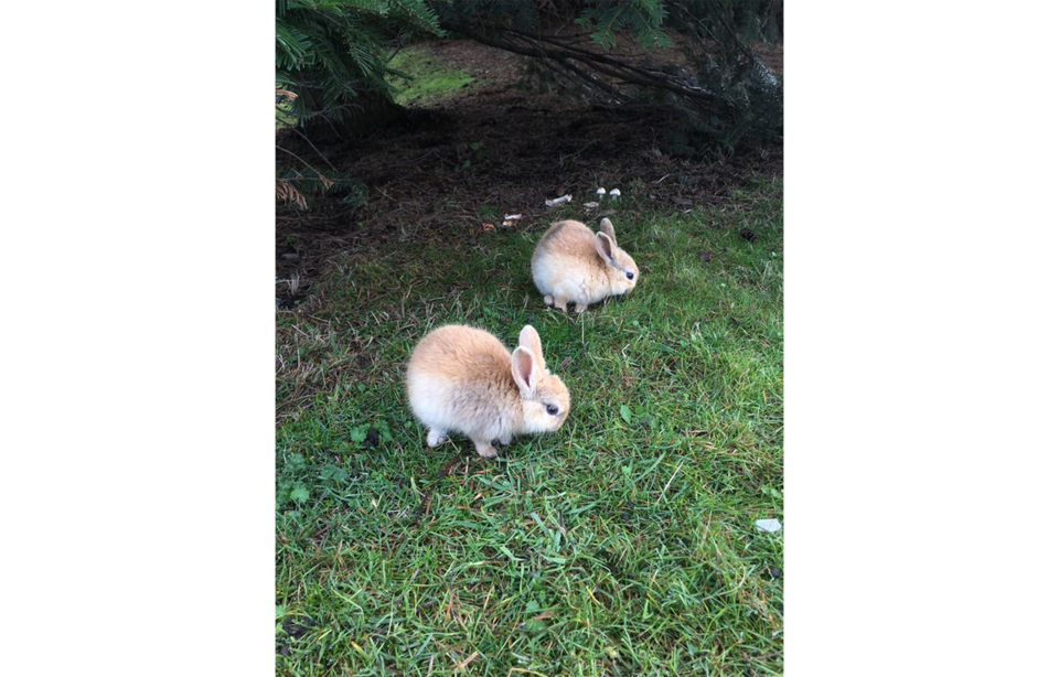
<instances>
[{"instance_id":1,"label":"larger tan and white rabbit in front, farther from the mushrooms","mask_svg":"<svg viewBox=\"0 0 1059 677\"><path fill-rule=\"evenodd\" d=\"M555 432L570 412L570 393L548 372L541 336L528 324L514 352L484 330L434 330L411 352L407 389L413 413L428 429L428 447L460 432L483 459L496 455L493 440L507 444L516 434Z\"/></svg>"}]
</instances>

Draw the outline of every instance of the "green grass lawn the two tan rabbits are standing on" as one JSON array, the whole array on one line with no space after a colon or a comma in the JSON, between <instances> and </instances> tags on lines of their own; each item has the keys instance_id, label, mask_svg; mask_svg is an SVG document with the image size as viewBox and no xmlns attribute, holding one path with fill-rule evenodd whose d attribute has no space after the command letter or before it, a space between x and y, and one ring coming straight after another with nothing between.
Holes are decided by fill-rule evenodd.
<instances>
[{"instance_id":1,"label":"green grass lawn the two tan rabbits are standing on","mask_svg":"<svg viewBox=\"0 0 1059 677\"><path fill-rule=\"evenodd\" d=\"M277 675L784 673L784 531L753 525L785 523L783 182L622 201L641 281L581 315L533 287L546 223L381 244L277 311ZM564 427L424 449L404 361L450 322L533 324Z\"/></svg>"}]
</instances>

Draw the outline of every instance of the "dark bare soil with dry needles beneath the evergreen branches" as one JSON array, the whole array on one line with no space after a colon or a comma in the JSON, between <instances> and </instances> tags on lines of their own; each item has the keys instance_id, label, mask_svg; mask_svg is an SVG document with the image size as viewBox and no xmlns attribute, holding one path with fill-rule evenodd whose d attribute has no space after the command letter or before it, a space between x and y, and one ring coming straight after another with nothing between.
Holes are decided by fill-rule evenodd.
<instances>
[{"instance_id":1,"label":"dark bare soil with dry needles beneath the evergreen branches","mask_svg":"<svg viewBox=\"0 0 1059 677\"><path fill-rule=\"evenodd\" d=\"M391 238L471 239L488 224L501 228L507 214L522 214L518 228L543 229L555 214L545 200L570 193L582 209L581 203L598 200L598 186L628 195L638 185L638 198L686 211L721 203L752 179L783 175L783 146L681 157L667 136L677 126L670 112L530 94L512 87L522 57L471 41L429 46L439 60L474 76L478 87L436 108L410 108L406 119L366 138L315 148L296 138L277 140L308 163L330 164L366 189L360 206L342 202L340 194L310 196L308 211L277 200L278 307L296 300L278 280L297 276L295 293L304 298L335 260L370 255ZM774 72L783 72L782 45L763 55ZM288 155L277 151L277 160L281 157ZM617 206L609 197L600 202L598 209L584 208L584 221ZM619 208L630 216L631 205Z\"/></svg>"}]
</instances>

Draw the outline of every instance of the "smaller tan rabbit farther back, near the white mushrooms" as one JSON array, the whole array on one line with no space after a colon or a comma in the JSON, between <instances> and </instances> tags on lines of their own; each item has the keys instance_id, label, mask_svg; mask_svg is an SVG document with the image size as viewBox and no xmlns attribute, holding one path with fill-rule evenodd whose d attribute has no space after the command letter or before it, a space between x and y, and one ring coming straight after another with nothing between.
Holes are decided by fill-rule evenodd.
<instances>
[{"instance_id":1,"label":"smaller tan rabbit farther back, near the white mushrooms","mask_svg":"<svg viewBox=\"0 0 1059 677\"><path fill-rule=\"evenodd\" d=\"M579 221L552 224L533 250L530 268L544 304L563 312L569 301L575 312L585 312L607 297L629 293L640 280L640 269L618 246L609 218L599 222L595 235Z\"/></svg>"}]
</instances>

